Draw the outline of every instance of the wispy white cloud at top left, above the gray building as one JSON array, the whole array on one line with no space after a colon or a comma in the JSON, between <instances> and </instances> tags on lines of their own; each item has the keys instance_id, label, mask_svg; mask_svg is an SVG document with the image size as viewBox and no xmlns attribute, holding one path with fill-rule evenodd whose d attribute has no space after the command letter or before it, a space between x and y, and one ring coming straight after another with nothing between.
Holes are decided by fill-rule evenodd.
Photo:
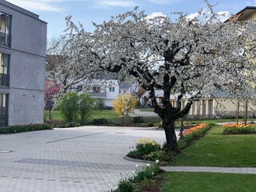
<instances>
[{"instance_id":1,"label":"wispy white cloud at top left, above the gray building","mask_svg":"<svg viewBox=\"0 0 256 192\"><path fill-rule=\"evenodd\" d=\"M82 0L6 0L26 10L45 10L62 12L62 8L56 4L60 2L74 2Z\"/></svg>"}]
</instances>

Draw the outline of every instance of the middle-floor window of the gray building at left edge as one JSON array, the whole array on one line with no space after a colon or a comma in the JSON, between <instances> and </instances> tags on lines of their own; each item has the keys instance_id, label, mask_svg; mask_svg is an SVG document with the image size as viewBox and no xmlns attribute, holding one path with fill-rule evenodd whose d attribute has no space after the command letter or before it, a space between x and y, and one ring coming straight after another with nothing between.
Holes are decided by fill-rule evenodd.
<instances>
[{"instance_id":1,"label":"middle-floor window of the gray building at left edge","mask_svg":"<svg viewBox=\"0 0 256 192\"><path fill-rule=\"evenodd\" d=\"M0 53L0 86L9 86L9 61L9 54Z\"/></svg>"}]
</instances>

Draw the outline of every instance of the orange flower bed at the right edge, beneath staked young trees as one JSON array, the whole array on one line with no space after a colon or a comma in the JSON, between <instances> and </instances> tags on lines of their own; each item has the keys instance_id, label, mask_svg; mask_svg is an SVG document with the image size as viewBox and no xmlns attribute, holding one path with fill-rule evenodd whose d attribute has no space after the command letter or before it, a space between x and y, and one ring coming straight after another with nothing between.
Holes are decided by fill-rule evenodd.
<instances>
[{"instance_id":1,"label":"orange flower bed at the right edge, beneath staked young trees","mask_svg":"<svg viewBox=\"0 0 256 192\"><path fill-rule=\"evenodd\" d=\"M230 123L222 126L224 128L223 134L256 134L256 126L253 124L243 124L239 122Z\"/></svg>"}]
</instances>

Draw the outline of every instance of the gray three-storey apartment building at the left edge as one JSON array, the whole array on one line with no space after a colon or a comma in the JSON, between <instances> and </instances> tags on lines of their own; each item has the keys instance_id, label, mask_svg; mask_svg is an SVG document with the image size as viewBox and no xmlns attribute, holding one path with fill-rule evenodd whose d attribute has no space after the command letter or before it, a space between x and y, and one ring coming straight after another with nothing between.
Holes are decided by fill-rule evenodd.
<instances>
[{"instance_id":1,"label":"gray three-storey apartment building at the left edge","mask_svg":"<svg viewBox=\"0 0 256 192\"><path fill-rule=\"evenodd\" d=\"M46 26L0 0L0 126L43 122Z\"/></svg>"}]
</instances>

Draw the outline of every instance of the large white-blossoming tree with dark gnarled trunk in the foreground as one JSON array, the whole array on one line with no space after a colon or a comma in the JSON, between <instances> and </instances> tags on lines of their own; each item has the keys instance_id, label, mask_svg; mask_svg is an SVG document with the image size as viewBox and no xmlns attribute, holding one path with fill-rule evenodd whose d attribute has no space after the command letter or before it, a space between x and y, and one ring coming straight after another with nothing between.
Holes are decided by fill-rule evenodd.
<instances>
[{"instance_id":1,"label":"large white-blossoming tree with dark gnarled trunk in the foreground","mask_svg":"<svg viewBox=\"0 0 256 192\"><path fill-rule=\"evenodd\" d=\"M254 23L219 22L212 6L206 4L211 13L206 22L181 13L174 21L169 17L149 18L135 8L94 24L94 33L89 33L76 26L71 17L66 18L67 37L73 47L70 57L74 61L89 57L90 62L80 63L88 74L107 71L121 79L134 78L148 90L154 112L162 118L167 150L175 153L179 149L174 122L188 113L194 101L214 95L215 90L230 97L253 93ZM156 89L163 91L162 105L157 102ZM178 104L172 106L170 94L175 93ZM185 94L190 99L182 108Z\"/></svg>"}]
</instances>

